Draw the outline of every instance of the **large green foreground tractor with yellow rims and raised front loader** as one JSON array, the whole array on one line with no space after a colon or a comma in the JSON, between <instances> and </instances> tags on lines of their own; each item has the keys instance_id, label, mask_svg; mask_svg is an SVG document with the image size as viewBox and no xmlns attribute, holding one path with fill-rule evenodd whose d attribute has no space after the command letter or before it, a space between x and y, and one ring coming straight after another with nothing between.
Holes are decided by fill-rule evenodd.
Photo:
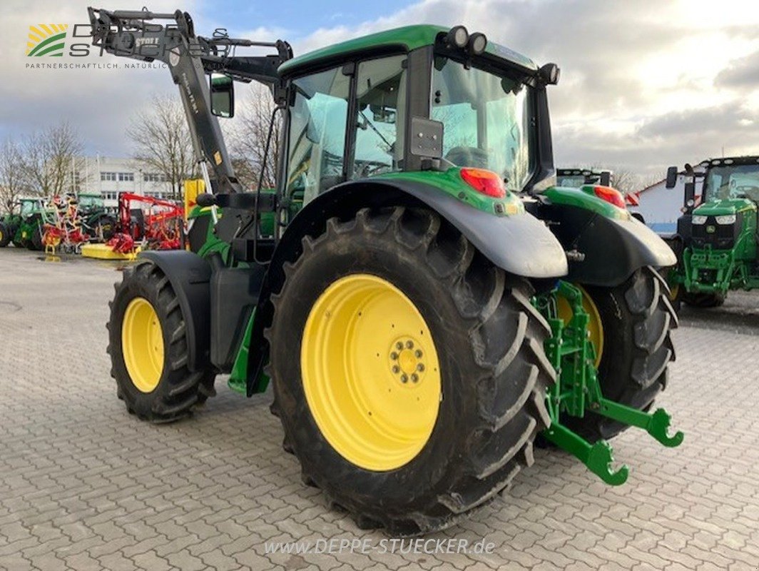
<instances>
[{"instance_id":1,"label":"large green foreground tractor with yellow rims and raised front loader","mask_svg":"<svg viewBox=\"0 0 759 571\"><path fill-rule=\"evenodd\" d=\"M166 63L211 190L191 251L140 254L117 285L109 354L129 412L175 421L218 374L247 396L272 384L304 482L398 535L493 499L539 435L609 484L628 468L604 438L682 442L653 409L677 323L653 268L675 255L619 192L553 185L556 65L461 26L293 58L196 36L181 11L90 19L96 46ZM230 55L244 46L276 53ZM231 168L217 117L235 80L269 86L283 121L273 193Z\"/></svg>"}]
</instances>

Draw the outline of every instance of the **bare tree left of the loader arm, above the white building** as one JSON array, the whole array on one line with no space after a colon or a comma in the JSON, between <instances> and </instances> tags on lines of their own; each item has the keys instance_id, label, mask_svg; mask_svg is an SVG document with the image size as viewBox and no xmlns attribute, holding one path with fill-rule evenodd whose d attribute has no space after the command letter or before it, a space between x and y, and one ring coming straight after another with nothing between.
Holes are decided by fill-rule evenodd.
<instances>
[{"instance_id":1,"label":"bare tree left of the loader arm, above the white building","mask_svg":"<svg viewBox=\"0 0 759 571\"><path fill-rule=\"evenodd\" d=\"M134 159L172 185L172 196L181 198L185 178L196 172L190 130L181 102L171 96L153 96L150 107L135 115L127 130Z\"/></svg>"}]
</instances>

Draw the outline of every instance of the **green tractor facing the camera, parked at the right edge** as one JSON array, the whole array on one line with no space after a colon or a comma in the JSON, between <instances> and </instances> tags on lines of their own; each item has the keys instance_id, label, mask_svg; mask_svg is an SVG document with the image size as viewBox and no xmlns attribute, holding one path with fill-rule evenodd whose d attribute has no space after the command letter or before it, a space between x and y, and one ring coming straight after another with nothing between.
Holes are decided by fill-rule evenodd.
<instances>
[{"instance_id":1,"label":"green tractor facing the camera, parked at the right edge","mask_svg":"<svg viewBox=\"0 0 759 571\"><path fill-rule=\"evenodd\" d=\"M697 172L685 165L683 215L676 234L665 237L678 254L667 279L676 305L714 308L731 289L759 288L759 156L710 159L699 166ZM669 167L666 188L675 187L678 175L677 167Z\"/></svg>"}]
</instances>

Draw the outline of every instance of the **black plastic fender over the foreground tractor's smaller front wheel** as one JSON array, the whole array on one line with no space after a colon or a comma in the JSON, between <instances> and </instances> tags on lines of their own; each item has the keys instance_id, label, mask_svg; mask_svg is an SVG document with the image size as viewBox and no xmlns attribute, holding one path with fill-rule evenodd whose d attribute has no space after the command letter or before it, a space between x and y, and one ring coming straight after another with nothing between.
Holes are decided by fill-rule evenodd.
<instances>
[{"instance_id":1,"label":"black plastic fender over the foreground tractor's smaller front wheel","mask_svg":"<svg viewBox=\"0 0 759 571\"><path fill-rule=\"evenodd\" d=\"M211 347L211 266L202 257L185 250L141 252L137 261L150 260L168 278L179 300L189 347L190 371L209 367Z\"/></svg>"}]
</instances>

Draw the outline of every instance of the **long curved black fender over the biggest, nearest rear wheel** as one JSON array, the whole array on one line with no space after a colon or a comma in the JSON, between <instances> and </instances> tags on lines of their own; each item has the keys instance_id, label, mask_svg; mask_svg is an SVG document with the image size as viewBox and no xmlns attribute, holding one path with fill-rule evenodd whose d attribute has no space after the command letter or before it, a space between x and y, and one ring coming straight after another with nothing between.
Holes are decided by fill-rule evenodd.
<instances>
[{"instance_id":1,"label":"long curved black fender over the biggest, nearest rear wheel","mask_svg":"<svg viewBox=\"0 0 759 571\"><path fill-rule=\"evenodd\" d=\"M249 396L255 392L268 358L263 330L271 323L269 296L282 288L283 265L301 255L302 238L322 234L330 218L347 220L361 208L391 205L435 210L491 262L509 273L531 278L558 278L567 273L562 245L543 222L529 213L496 216L470 207L431 185L400 179L361 179L335 186L311 200L294 216L269 263L248 353Z\"/></svg>"}]
</instances>

